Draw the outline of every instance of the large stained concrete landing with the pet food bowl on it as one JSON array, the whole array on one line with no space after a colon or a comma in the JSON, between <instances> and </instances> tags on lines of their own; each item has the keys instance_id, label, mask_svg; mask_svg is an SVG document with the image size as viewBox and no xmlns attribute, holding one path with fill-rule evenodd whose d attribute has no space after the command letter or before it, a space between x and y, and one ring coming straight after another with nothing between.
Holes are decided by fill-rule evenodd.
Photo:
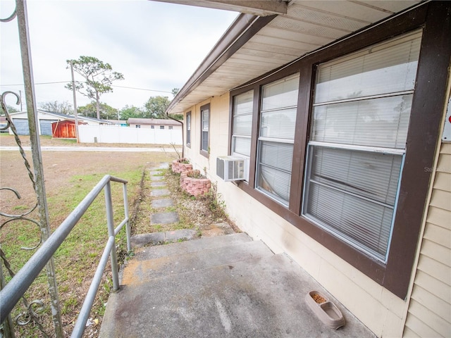
<instances>
[{"instance_id":1,"label":"large stained concrete landing with the pet food bowl on it","mask_svg":"<svg viewBox=\"0 0 451 338\"><path fill-rule=\"evenodd\" d=\"M310 311L304 296L312 289L335 302L344 327L331 330ZM109 297L99 337L374 336L299 265L278 254L124 285Z\"/></svg>"}]
</instances>

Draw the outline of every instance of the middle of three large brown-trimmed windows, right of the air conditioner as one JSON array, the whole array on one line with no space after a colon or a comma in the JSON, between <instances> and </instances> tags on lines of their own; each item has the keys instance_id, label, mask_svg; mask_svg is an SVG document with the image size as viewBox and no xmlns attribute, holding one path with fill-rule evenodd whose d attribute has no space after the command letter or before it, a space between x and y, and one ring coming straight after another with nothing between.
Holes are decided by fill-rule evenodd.
<instances>
[{"instance_id":1,"label":"middle of three large brown-trimmed windows, right of the air conditioner","mask_svg":"<svg viewBox=\"0 0 451 338\"><path fill-rule=\"evenodd\" d=\"M261 92L257 189L280 204L290 201L299 74L266 84Z\"/></svg>"}]
</instances>

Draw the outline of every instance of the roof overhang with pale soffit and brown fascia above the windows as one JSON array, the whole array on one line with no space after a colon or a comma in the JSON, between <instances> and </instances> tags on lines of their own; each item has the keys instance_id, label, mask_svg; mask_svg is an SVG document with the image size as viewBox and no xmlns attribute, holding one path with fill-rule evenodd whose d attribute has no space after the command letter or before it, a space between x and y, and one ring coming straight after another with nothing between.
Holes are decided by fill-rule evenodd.
<instances>
[{"instance_id":1,"label":"roof overhang with pale soffit and brown fascia above the windows","mask_svg":"<svg viewBox=\"0 0 451 338\"><path fill-rule=\"evenodd\" d=\"M206 6L234 0L156 0ZM390 16L430 0L284 2L286 14L241 13L180 89L166 113L183 113L194 104L219 96L276 71L332 43L357 35ZM236 2L236 1L235 1ZM237 1L257 3L261 1ZM263 1L276 2L276 1ZM377 6L376 6L377 5ZM227 9L231 9L228 6ZM240 11L244 11L241 9Z\"/></svg>"}]
</instances>

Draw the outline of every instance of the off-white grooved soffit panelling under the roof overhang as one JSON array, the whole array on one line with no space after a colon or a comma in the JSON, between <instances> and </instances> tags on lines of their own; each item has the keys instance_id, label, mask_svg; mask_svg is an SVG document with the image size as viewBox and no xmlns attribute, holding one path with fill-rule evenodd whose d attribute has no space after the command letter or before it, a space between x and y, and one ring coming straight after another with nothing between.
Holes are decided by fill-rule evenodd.
<instances>
[{"instance_id":1,"label":"off-white grooved soffit panelling under the roof overhang","mask_svg":"<svg viewBox=\"0 0 451 338\"><path fill-rule=\"evenodd\" d=\"M183 113L211 96L222 95L299 56L420 2L292 0L286 14L279 14L261 28L209 77L197 86L183 87L169 106L168 113Z\"/></svg>"}]
</instances>

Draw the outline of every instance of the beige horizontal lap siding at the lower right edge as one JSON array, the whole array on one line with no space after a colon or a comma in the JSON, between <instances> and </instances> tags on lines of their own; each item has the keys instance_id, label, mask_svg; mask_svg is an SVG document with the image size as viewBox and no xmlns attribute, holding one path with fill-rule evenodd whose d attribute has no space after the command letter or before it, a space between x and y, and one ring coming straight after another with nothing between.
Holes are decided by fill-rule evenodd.
<instances>
[{"instance_id":1,"label":"beige horizontal lap siding at the lower right edge","mask_svg":"<svg viewBox=\"0 0 451 338\"><path fill-rule=\"evenodd\" d=\"M441 144L434 171L404 337L449 337L451 332L450 143Z\"/></svg>"}]
</instances>

